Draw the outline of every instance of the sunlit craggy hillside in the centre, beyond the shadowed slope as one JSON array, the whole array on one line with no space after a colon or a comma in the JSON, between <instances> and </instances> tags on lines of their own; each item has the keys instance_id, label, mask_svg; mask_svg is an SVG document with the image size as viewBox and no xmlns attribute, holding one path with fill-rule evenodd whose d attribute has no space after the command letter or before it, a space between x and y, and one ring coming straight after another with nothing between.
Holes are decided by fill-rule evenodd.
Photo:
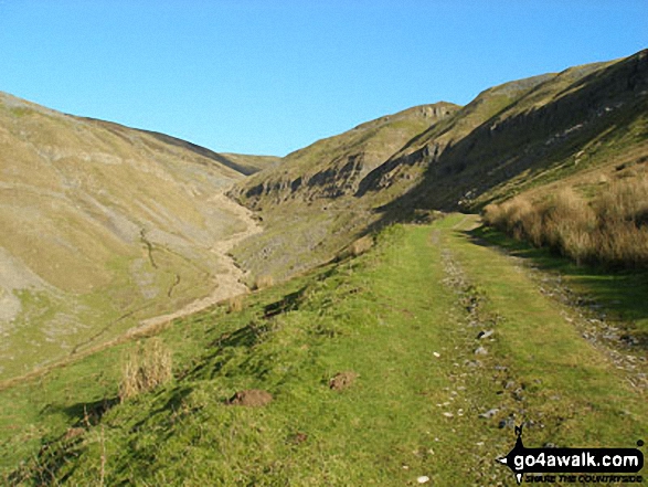
<instances>
[{"instance_id":1,"label":"sunlit craggy hillside in the centre, beyond the shadowed slope","mask_svg":"<svg viewBox=\"0 0 648 487\"><path fill-rule=\"evenodd\" d=\"M256 210L264 233L233 253L254 276L285 278L329 260L376 215L353 198L361 181L413 137L459 107L423 105L319 140L261 171L230 194Z\"/></svg>"}]
</instances>

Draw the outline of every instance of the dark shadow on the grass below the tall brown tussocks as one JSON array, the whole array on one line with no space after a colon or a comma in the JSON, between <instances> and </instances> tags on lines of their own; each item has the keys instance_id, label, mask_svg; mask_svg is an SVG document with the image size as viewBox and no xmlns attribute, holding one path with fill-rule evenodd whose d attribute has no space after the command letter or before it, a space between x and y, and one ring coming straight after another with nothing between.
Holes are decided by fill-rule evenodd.
<instances>
[{"instance_id":1,"label":"dark shadow on the grass below the tall brown tussocks","mask_svg":"<svg viewBox=\"0 0 648 487\"><path fill-rule=\"evenodd\" d=\"M546 248L533 247L487 226L457 232L476 245L503 251L546 273L542 285L554 298L577 308L585 317L604 316L608 322L612 319L614 326L623 327L619 345L648 350L648 327L635 324L648 319L647 271L576 265Z\"/></svg>"}]
</instances>

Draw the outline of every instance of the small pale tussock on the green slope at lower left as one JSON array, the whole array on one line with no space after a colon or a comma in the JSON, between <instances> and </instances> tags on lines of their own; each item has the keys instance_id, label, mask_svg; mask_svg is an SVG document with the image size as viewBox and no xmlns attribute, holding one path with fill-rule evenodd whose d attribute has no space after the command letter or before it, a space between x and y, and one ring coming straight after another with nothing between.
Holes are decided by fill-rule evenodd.
<instances>
[{"instance_id":1,"label":"small pale tussock on the green slope at lower left","mask_svg":"<svg viewBox=\"0 0 648 487\"><path fill-rule=\"evenodd\" d=\"M171 353L153 337L128 354L124 363L119 399L126 401L168 382L172 377Z\"/></svg>"}]
</instances>

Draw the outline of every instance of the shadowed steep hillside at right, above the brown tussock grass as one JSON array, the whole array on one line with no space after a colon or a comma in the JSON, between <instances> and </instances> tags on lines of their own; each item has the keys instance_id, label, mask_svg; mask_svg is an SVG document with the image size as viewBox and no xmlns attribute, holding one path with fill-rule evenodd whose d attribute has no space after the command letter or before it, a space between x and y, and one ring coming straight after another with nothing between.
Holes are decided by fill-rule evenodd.
<instances>
[{"instance_id":1,"label":"shadowed steep hillside at right, above the brown tussock grass","mask_svg":"<svg viewBox=\"0 0 648 487\"><path fill-rule=\"evenodd\" d=\"M469 131L457 130L484 106ZM648 153L648 51L491 88L447 125L378 168L363 190L397 186L414 165L425 176L397 207L478 209L586 169L633 163Z\"/></svg>"}]
</instances>

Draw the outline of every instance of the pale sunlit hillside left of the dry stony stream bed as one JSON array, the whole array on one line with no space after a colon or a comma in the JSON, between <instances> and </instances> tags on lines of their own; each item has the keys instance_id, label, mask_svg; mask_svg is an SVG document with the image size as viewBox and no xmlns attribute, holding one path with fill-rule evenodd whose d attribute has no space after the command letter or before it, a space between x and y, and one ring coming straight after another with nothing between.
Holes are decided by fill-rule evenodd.
<instances>
[{"instance_id":1,"label":"pale sunlit hillside left of the dry stony stream bed","mask_svg":"<svg viewBox=\"0 0 648 487\"><path fill-rule=\"evenodd\" d=\"M0 94L0 379L210 294L259 162Z\"/></svg>"}]
</instances>

